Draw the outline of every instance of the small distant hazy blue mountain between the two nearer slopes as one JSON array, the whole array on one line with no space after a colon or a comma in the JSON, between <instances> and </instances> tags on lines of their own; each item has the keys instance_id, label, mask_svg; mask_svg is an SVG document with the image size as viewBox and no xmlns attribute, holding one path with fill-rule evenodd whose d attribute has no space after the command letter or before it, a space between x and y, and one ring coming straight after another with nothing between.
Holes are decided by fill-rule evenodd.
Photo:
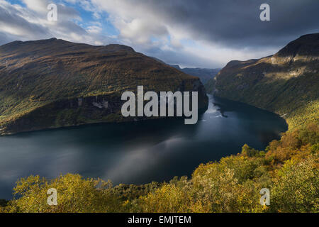
<instances>
[{"instance_id":1,"label":"small distant hazy blue mountain between the two nearer slopes","mask_svg":"<svg viewBox=\"0 0 319 227\"><path fill-rule=\"evenodd\" d=\"M179 67L179 65L171 65L172 67L180 70L181 72L185 72L186 74L192 75L194 77L198 77L201 79L203 84L206 84L210 79L216 77L220 69L203 69L203 68L183 68Z\"/></svg>"}]
</instances>

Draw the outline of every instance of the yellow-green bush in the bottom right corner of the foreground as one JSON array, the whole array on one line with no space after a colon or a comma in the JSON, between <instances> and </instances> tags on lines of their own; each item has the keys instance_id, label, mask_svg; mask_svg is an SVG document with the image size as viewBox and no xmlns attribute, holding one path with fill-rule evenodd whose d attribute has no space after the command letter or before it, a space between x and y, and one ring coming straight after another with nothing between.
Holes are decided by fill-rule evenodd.
<instances>
[{"instance_id":1,"label":"yellow-green bush in the bottom right corner of the foreground","mask_svg":"<svg viewBox=\"0 0 319 227\"><path fill-rule=\"evenodd\" d=\"M301 162L289 160L278 171L272 187L272 210L279 212L319 212L318 157Z\"/></svg>"}]
</instances>

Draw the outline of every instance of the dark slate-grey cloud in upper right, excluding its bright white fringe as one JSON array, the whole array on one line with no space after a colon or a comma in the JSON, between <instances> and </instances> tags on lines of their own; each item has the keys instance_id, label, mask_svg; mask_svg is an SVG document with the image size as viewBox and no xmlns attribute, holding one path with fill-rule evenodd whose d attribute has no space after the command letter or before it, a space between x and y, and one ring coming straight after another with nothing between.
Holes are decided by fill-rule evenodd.
<instances>
[{"instance_id":1,"label":"dark slate-grey cloud in upper right, excluding its bright white fringe","mask_svg":"<svg viewBox=\"0 0 319 227\"><path fill-rule=\"evenodd\" d=\"M271 8L271 21L260 21L259 6ZM319 31L318 0L174 0L145 1L167 23L184 27L197 40L237 48L279 46Z\"/></svg>"}]
</instances>

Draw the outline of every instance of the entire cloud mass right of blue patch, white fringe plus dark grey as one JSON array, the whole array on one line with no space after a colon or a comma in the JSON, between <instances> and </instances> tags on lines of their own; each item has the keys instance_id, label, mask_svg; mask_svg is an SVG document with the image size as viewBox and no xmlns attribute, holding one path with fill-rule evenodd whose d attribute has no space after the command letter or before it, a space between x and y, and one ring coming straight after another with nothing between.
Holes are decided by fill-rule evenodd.
<instances>
[{"instance_id":1,"label":"entire cloud mass right of blue patch, white fringe plus dark grey","mask_svg":"<svg viewBox=\"0 0 319 227\"><path fill-rule=\"evenodd\" d=\"M301 35L319 32L318 0L93 2L111 14L123 43L187 66L223 67L230 60L272 55ZM262 4L269 4L271 21L260 20ZM162 36L155 32L164 27Z\"/></svg>"}]
</instances>

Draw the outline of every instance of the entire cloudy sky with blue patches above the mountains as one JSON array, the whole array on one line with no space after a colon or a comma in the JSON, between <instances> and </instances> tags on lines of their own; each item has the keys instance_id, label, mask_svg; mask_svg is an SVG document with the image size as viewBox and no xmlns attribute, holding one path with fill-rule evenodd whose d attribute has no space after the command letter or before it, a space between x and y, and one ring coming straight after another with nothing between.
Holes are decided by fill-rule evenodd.
<instances>
[{"instance_id":1,"label":"entire cloudy sky with blue patches above the mountains","mask_svg":"<svg viewBox=\"0 0 319 227\"><path fill-rule=\"evenodd\" d=\"M47 6L57 4L57 21ZM271 21L261 21L261 4ZM130 45L182 67L223 67L274 54L319 32L318 0L0 0L0 45L62 38Z\"/></svg>"}]
</instances>

